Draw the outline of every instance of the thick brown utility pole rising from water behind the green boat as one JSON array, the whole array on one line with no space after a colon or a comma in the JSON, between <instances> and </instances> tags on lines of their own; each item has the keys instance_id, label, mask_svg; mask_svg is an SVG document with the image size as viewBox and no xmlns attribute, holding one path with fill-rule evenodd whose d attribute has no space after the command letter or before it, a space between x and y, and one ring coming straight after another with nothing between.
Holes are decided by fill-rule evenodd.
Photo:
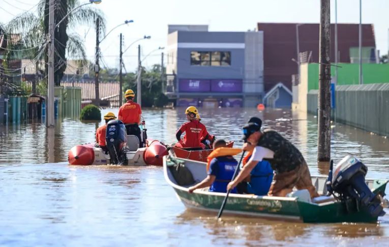
<instances>
[{"instance_id":1,"label":"thick brown utility pole rising from water behind the green boat","mask_svg":"<svg viewBox=\"0 0 389 247\"><path fill-rule=\"evenodd\" d=\"M317 160L331 158L330 0L320 0L320 72Z\"/></svg>"}]
</instances>

